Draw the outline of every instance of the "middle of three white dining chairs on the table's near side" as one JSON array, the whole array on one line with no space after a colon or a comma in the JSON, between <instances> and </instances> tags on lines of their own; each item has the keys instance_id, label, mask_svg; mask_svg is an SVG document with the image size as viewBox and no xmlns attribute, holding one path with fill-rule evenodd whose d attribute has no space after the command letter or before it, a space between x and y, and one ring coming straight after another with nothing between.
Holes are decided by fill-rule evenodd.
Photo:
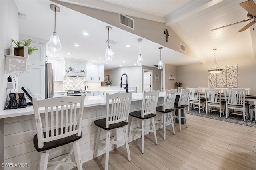
<instances>
[{"instance_id":1,"label":"middle of three white dining chairs on the table's near side","mask_svg":"<svg viewBox=\"0 0 256 170\"><path fill-rule=\"evenodd\" d=\"M205 100L206 100L206 112L209 111L217 111L216 107L218 107L218 111L220 112L220 117L221 113L225 112L225 102L221 101L221 90L220 89L205 89ZM214 107L214 109L213 109ZM222 109L221 109L222 107Z\"/></svg>"}]
</instances>

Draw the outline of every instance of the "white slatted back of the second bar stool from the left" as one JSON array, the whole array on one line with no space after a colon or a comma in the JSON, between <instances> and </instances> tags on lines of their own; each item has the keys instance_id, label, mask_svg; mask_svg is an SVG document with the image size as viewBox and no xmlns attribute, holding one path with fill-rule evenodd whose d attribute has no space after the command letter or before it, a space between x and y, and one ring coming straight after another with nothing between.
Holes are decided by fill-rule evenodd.
<instances>
[{"instance_id":1,"label":"white slatted back of the second bar stool from the left","mask_svg":"<svg viewBox=\"0 0 256 170\"><path fill-rule=\"evenodd\" d=\"M132 92L106 94L106 127L122 121L128 122ZM109 107L111 105L111 107Z\"/></svg>"}]
</instances>

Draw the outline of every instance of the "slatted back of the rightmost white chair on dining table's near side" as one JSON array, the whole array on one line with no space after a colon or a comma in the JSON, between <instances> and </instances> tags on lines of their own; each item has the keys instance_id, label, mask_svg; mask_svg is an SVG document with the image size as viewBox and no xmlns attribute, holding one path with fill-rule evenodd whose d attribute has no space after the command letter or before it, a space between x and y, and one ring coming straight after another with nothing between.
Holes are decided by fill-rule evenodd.
<instances>
[{"instance_id":1,"label":"slatted back of the rightmost white chair on dining table's near side","mask_svg":"<svg viewBox=\"0 0 256 170\"><path fill-rule=\"evenodd\" d=\"M245 105L245 89L226 89L225 101L228 105Z\"/></svg>"}]
</instances>

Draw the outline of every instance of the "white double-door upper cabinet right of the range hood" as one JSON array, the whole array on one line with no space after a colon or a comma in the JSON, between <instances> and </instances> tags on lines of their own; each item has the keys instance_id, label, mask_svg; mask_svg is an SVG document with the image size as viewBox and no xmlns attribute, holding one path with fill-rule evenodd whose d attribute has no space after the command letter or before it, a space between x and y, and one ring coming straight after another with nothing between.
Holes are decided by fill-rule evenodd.
<instances>
[{"instance_id":1,"label":"white double-door upper cabinet right of the range hood","mask_svg":"<svg viewBox=\"0 0 256 170\"><path fill-rule=\"evenodd\" d=\"M86 71L86 81L104 81L104 65L87 63Z\"/></svg>"}]
</instances>

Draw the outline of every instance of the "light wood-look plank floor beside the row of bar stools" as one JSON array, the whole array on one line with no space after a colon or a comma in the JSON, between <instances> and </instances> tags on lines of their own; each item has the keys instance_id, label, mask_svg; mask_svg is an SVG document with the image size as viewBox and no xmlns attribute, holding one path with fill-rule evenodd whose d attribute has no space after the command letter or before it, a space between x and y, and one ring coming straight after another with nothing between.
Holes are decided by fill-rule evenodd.
<instances>
[{"instance_id":1,"label":"light wood-look plank floor beside the row of bar stools","mask_svg":"<svg viewBox=\"0 0 256 170\"><path fill-rule=\"evenodd\" d=\"M188 115L188 128L174 123L145 136L144 154L141 138L129 143L131 161L126 148L110 152L109 170L256 170L256 128L194 115ZM105 154L83 164L85 170L103 170Z\"/></svg>"}]
</instances>

